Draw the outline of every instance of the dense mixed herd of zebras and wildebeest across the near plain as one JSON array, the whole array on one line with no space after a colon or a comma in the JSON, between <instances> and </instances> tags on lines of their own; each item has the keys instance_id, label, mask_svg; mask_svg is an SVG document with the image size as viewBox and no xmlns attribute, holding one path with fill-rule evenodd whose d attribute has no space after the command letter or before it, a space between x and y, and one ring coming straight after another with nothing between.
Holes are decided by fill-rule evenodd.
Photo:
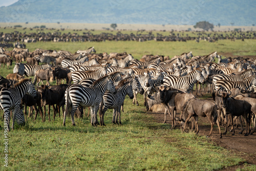
<instances>
[{"instance_id":1,"label":"dense mixed herd of zebras and wildebeest across the near plain","mask_svg":"<svg viewBox=\"0 0 256 171\"><path fill-rule=\"evenodd\" d=\"M74 117L82 117L86 107L89 108L92 125L105 125L104 113L113 109L112 123L121 124L125 96L128 95L133 104L139 105L136 95L140 93L147 111L152 111L157 104L164 107L164 123L168 113L173 129L178 121L183 131L187 125L194 129L195 124L198 133L198 116L201 116L207 117L211 123L208 136L211 136L215 123L220 138L227 133L229 124L234 135L234 120L237 125L240 121L241 134L244 122L245 136L255 131L256 60L253 59L222 59L217 52L194 56L188 52L171 59L168 56L144 55L138 60L126 52L97 54L94 47L77 50L75 54L44 49L30 52L22 48L13 48L12 51L1 48L0 52L0 62L6 63L7 67L15 61L13 74L8 74L6 78L0 76L0 109L4 110L8 130L10 112L13 129L15 120L18 124L25 124L27 106L29 117L33 117L35 110L34 119L39 112L43 122L46 121L46 105L49 121L51 106L53 119L57 113L60 117L62 108L64 126L67 115L71 115L72 125L75 125ZM217 58L218 62L214 62ZM26 76L34 77L34 80ZM55 79L57 85L51 86L50 82ZM66 83L63 83L64 80ZM198 93L202 95L201 87L204 90L206 84L207 93L212 93L214 102L193 95L191 92L195 84L196 96L199 96ZM180 118L176 117L177 110L181 111ZM221 133L220 125L225 126L224 133Z\"/></svg>"}]
</instances>

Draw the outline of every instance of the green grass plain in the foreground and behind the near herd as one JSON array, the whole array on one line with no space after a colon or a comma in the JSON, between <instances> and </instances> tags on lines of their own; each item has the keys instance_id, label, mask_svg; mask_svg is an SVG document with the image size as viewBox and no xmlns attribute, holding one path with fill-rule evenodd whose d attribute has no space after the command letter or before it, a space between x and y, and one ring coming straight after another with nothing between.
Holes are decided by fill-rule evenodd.
<instances>
[{"instance_id":1,"label":"green grass plain in the foreground and behind the near herd","mask_svg":"<svg viewBox=\"0 0 256 171\"><path fill-rule=\"evenodd\" d=\"M75 52L94 46L97 53L124 52L133 54L137 59L144 54L179 55L193 51L194 55L220 53L245 53L256 55L253 48L255 40L231 42L219 40L214 43L200 41L187 42L36 42L27 44L30 51L36 48L68 50ZM0 68L0 75L12 73ZM55 82L53 82L55 84ZM125 99L124 112L121 114L123 125L112 125L112 110L105 114L106 126L93 127L90 119L75 118L76 126L67 117L66 127L63 118L44 123L41 118L26 125L15 124L9 132L9 167L1 164L1 170L216 170L238 165L244 159L234 156L227 149L218 146L206 137L194 133L181 133L170 130L170 125L156 123L141 106L143 97L138 95L140 106ZM0 111L3 115L3 111ZM47 117L46 117L47 118ZM0 125L4 125L0 119ZM3 128L2 128L3 129ZM2 136L4 134L2 132ZM2 138L4 139L4 138ZM1 156L4 144L0 144ZM245 168L253 169L248 165Z\"/></svg>"}]
</instances>

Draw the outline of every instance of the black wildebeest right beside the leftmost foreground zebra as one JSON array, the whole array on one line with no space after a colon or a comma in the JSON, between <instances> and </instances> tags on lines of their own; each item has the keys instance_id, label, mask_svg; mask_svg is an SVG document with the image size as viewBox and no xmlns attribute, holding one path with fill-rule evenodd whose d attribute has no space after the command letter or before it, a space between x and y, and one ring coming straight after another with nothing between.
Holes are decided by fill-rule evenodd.
<instances>
[{"instance_id":1,"label":"black wildebeest right beside the leftmost foreground zebra","mask_svg":"<svg viewBox=\"0 0 256 171\"><path fill-rule=\"evenodd\" d=\"M25 96L22 98L21 104L25 105L24 114L25 114L26 120L27 120L27 106L29 106L29 107L32 106L33 109L35 110L35 119L34 120L36 120L38 109L39 109L41 117L42 117L42 122L44 122L44 117L42 116L42 108L41 108L41 96L40 96L40 93L38 93L38 92L36 92L36 93L37 93L36 99L28 94L25 94ZM36 106L38 106L38 109L36 108ZM30 113L30 111L29 111L29 113Z\"/></svg>"}]
</instances>

